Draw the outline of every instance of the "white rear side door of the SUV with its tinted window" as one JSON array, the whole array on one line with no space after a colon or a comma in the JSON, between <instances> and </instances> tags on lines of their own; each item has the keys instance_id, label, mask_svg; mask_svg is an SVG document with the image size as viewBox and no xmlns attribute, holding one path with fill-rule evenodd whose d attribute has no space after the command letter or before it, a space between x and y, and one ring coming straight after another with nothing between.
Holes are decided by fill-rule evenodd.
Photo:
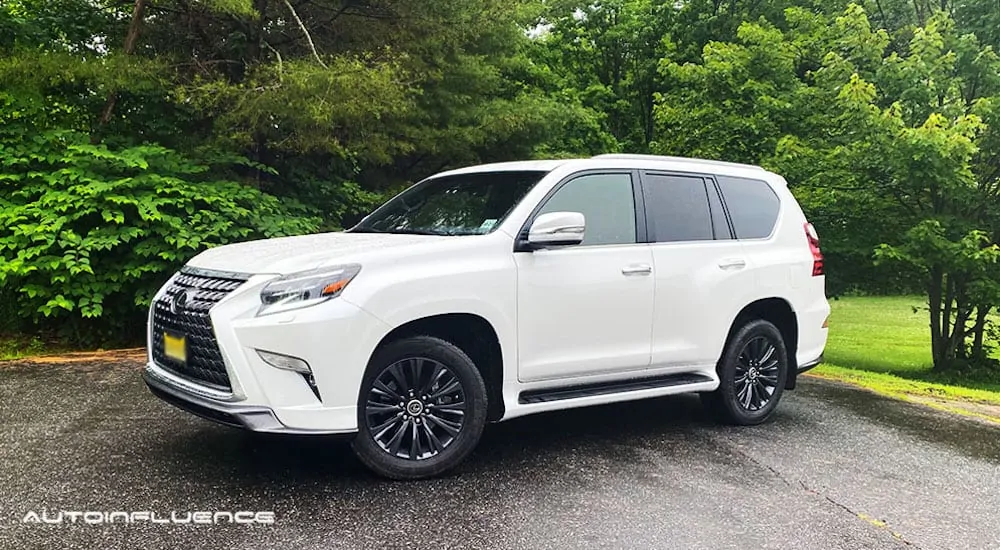
<instances>
[{"instance_id":1,"label":"white rear side door of the SUV with its tinted window","mask_svg":"<svg viewBox=\"0 0 1000 550\"><path fill-rule=\"evenodd\" d=\"M755 293L750 259L713 176L647 171L641 178L656 287L651 366L715 364L733 317Z\"/></svg>"}]
</instances>

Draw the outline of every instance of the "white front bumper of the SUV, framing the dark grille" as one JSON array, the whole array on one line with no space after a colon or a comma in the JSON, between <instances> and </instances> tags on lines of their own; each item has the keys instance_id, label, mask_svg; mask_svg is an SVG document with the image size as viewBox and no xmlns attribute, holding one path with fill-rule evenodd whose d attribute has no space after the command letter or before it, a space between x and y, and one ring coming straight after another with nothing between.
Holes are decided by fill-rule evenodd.
<instances>
[{"instance_id":1,"label":"white front bumper of the SUV, framing the dark grille","mask_svg":"<svg viewBox=\"0 0 1000 550\"><path fill-rule=\"evenodd\" d=\"M163 368L152 353L152 322L144 374L147 385L168 403L229 426L278 433L357 432L362 377L372 350L388 328L344 297L257 317L260 288L269 278L251 277L209 311L228 391ZM312 380L267 364L257 350L306 361Z\"/></svg>"}]
</instances>

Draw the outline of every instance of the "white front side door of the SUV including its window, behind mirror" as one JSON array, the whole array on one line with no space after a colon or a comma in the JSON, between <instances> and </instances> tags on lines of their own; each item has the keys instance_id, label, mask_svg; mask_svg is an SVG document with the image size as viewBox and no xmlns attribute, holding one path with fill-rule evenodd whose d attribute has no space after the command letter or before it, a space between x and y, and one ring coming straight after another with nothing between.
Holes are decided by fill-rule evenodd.
<instances>
[{"instance_id":1,"label":"white front side door of the SUV including its window, behind mirror","mask_svg":"<svg viewBox=\"0 0 1000 550\"><path fill-rule=\"evenodd\" d=\"M576 246L515 253L518 378L550 380L649 366L653 257L637 238L632 175L572 178L535 215L580 212Z\"/></svg>"}]
</instances>

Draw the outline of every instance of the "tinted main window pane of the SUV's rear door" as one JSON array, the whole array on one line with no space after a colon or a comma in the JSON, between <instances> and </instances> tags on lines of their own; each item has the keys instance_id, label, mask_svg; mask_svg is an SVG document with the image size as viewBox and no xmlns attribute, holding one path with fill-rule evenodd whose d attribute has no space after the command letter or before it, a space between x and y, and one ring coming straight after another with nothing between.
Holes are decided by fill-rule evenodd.
<instances>
[{"instance_id":1,"label":"tinted main window pane of the SUV's rear door","mask_svg":"<svg viewBox=\"0 0 1000 550\"><path fill-rule=\"evenodd\" d=\"M710 241L714 238L704 179L644 174L643 190L646 220L656 242Z\"/></svg>"}]
</instances>

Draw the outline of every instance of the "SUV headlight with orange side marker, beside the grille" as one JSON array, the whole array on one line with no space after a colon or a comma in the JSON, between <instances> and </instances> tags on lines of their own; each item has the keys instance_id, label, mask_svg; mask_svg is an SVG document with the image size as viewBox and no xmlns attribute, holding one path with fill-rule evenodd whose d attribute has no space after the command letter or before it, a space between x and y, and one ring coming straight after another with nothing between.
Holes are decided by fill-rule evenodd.
<instances>
[{"instance_id":1,"label":"SUV headlight with orange side marker, beside the grille","mask_svg":"<svg viewBox=\"0 0 1000 550\"><path fill-rule=\"evenodd\" d=\"M260 291L257 316L321 304L336 298L361 271L357 264L322 267L279 277Z\"/></svg>"}]
</instances>

